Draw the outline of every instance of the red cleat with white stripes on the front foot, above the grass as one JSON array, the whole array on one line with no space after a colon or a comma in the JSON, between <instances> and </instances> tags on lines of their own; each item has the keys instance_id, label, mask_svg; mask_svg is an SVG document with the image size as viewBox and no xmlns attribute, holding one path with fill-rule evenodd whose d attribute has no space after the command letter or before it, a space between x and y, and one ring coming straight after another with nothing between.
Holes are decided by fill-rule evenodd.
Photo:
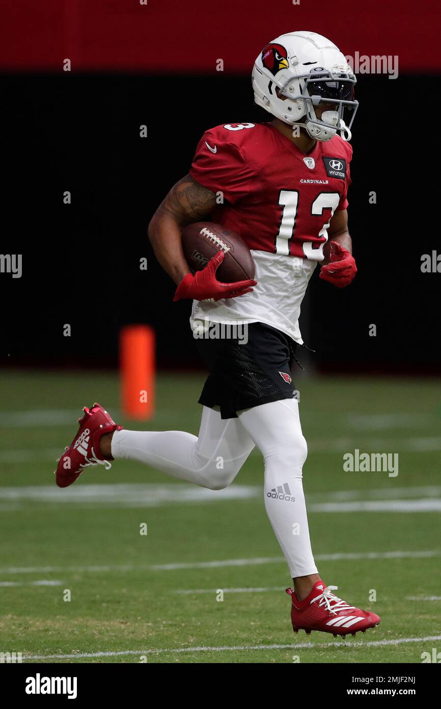
<instances>
[{"instance_id":1,"label":"red cleat with white stripes on the front foot, above the grass","mask_svg":"<svg viewBox=\"0 0 441 709\"><path fill-rule=\"evenodd\" d=\"M378 615L342 601L332 593L336 589L337 586L325 586L319 579L309 596L304 601L297 601L292 588L287 588L286 591L292 598L292 630L304 630L308 635L311 630L322 630L332 632L334 637L345 637L349 633L355 635L359 630L365 632L368 627L379 624Z\"/></svg>"}]
</instances>

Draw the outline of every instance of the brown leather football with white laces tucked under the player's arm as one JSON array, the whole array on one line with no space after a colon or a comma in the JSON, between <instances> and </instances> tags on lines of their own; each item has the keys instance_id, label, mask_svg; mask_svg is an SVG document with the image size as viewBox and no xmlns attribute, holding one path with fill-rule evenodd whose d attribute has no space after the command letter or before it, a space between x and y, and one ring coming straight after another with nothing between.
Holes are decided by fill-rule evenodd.
<instances>
[{"instance_id":1,"label":"brown leather football with white laces tucked under the player's arm","mask_svg":"<svg viewBox=\"0 0 441 709\"><path fill-rule=\"evenodd\" d=\"M234 283L254 278L254 261L251 251L239 234L222 224L195 222L188 224L182 232L182 246L185 258L193 272L201 271L210 259L223 251L222 264L216 272L218 281Z\"/></svg>"}]
</instances>

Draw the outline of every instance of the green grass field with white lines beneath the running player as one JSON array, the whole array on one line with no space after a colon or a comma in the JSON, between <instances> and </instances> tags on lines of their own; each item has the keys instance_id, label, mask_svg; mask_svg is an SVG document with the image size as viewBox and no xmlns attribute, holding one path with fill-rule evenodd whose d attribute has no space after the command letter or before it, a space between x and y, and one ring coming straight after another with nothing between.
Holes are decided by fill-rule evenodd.
<instances>
[{"instance_id":1,"label":"green grass field with white lines beneath the running player","mask_svg":"<svg viewBox=\"0 0 441 709\"><path fill-rule=\"evenodd\" d=\"M160 376L156 417L139 425L118 416L116 374L0 375L0 652L42 663L420 663L441 650L440 381L299 387L321 576L382 616L345 642L292 633L292 582L265 515L258 452L227 491L118 461L56 488L55 459L82 406L100 401L127 428L197 433L202 381ZM355 448L399 453L398 476L343 471Z\"/></svg>"}]
</instances>

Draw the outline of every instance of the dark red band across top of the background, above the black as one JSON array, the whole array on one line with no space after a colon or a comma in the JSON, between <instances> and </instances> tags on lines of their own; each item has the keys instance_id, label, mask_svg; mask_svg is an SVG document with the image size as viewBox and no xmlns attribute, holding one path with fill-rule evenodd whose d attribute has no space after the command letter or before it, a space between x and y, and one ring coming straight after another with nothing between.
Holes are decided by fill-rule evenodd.
<instances>
[{"instance_id":1,"label":"dark red band across top of the background, above the black","mask_svg":"<svg viewBox=\"0 0 441 709\"><path fill-rule=\"evenodd\" d=\"M435 0L13 0L2 9L0 68L212 73L251 71L263 45L309 29L343 52L399 55L401 71L441 69Z\"/></svg>"}]
</instances>

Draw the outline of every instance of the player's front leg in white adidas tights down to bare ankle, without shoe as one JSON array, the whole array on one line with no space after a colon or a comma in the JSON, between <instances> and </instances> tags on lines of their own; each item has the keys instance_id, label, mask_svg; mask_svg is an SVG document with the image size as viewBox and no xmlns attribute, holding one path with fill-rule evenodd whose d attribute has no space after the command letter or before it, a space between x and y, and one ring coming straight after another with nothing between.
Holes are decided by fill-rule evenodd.
<instances>
[{"instance_id":1,"label":"player's front leg in white adidas tights down to bare ankle, without shoe","mask_svg":"<svg viewBox=\"0 0 441 709\"><path fill-rule=\"evenodd\" d=\"M282 399L239 411L239 420L263 453L265 508L299 596L319 579L309 540L302 466L307 442L297 399Z\"/></svg>"}]
</instances>

